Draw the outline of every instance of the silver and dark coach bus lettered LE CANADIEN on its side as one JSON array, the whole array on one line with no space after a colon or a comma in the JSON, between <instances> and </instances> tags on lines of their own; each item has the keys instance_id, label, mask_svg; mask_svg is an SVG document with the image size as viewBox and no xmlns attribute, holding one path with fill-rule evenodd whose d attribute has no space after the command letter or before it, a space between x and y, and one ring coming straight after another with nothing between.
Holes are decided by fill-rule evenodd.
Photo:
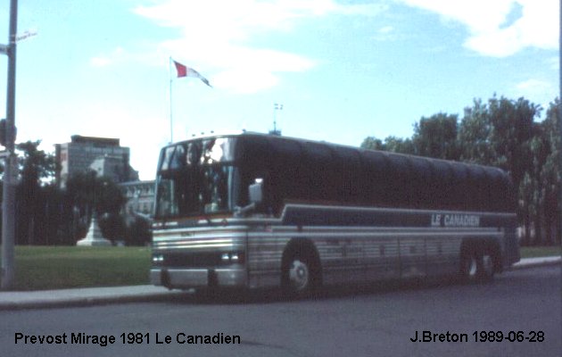
<instances>
[{"instance_id":1,"label":"silver and dark coach bus lettered LE CANADIEN on its side","mask_svg":"<svg viewBox=\"0 0 562 357\"><path fill-rule=\"evenodd\" d=\"M500 169L241 132L161 149L151 282L206 289L459 276L519 261Z\"/></svg>"}]
</instances>

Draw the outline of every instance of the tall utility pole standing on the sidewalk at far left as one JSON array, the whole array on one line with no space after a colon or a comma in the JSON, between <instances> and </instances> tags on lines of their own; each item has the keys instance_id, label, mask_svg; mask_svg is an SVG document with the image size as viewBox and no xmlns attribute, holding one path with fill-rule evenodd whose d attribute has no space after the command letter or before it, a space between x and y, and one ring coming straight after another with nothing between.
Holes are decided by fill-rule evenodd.
<instances>
[{"instance_id":1,"label":"tall utility pole standing on the sidewalk at far left","mask_svg":"<svg viewBox=\"0 0 562 357\"><path fill-rule=\"evenodd\" d=\"M15 73L16 40L18 32L18 1L10 1L10 32L8 45L0 46L0 52L8 56L8 85L6 95L6 127L4 155L4 185L2 198L2 284L3 290L12 288L14 277L13 245L15 222Z\"/></svg>"}]
</instances>

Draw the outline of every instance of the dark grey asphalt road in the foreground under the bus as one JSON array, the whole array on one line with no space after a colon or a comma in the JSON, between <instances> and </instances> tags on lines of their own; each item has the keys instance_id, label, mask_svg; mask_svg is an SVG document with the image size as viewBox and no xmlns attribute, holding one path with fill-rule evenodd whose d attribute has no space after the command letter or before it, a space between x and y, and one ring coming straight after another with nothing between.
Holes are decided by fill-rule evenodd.
<instances>
[{"instance_id":1,"label":"dark grey asphalt road in the foreground under the bus","mask_svg":"<svg viewBox=\"0 0 562 357\"><path fill-rule=\"evenodd\" d=\"M164 303L0 311L0 355L559 356L560 272L559 266L516 270L482 285L434 282L368 291L348 288L302 301L262 292L244 302L186 295ZM420 338L428 334L424 331L431 331L436 341L411 341L416 333ZM475 342L475 331L501 331L504 338ZM139 344L123 344L122 333L141 334L136 336ZM240 336L241 344L181 343L187 336L220 333L223 339ZM89 342L73 342L72 334L90 336ZM446 342L462 339L463 334L467 342ZM497 332L485 335L500 337ZM16 336L21 337L17 344ZM41 345L40 336L51 336L46 341L60 344ZM103 336L113 336L115 342L102 346Z\"/></svg>"}]
</instances>

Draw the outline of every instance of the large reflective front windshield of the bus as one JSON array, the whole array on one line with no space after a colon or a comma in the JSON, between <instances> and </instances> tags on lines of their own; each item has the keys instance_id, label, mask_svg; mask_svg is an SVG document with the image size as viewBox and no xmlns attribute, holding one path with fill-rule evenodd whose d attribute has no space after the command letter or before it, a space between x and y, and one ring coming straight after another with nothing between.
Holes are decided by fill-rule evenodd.
<instances>
[{"instance_id":1,"label":"large reflective front windshield of the bus","mask_svg":"<svg viewBox=\"0 0 562 357\"><path fill-rule=\"evenodd\" d=\"M233 212L239 177L234 139L198 139L162 149L156 218Z\"/></svg>"}]
</instances>

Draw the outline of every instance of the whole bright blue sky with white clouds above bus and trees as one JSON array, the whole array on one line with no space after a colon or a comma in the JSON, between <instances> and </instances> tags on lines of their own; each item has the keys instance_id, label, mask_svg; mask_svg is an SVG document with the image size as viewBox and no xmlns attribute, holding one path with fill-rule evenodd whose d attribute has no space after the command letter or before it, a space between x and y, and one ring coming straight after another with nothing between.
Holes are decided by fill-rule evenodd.
<instances>
[{"instance_id":1,"label":"whole bright blue sky with white clouds above bus and trees","mask_svg":"<svg viewBox=\"0 0 562 357\"><path fill-rule=\"evenodd\" d=\"M17 141L117 137L141 179L170 141L268 132L359 146L475 98L559 94L557 0L19 1ZM0 1L0 44L9 0ZM177 79L170 58L209 79ZM0 117L7 58L0 57ZM170 102L171 95L171 102ZM283 104L275 110L275 104Z\"/></svg>"}]
</instances>

